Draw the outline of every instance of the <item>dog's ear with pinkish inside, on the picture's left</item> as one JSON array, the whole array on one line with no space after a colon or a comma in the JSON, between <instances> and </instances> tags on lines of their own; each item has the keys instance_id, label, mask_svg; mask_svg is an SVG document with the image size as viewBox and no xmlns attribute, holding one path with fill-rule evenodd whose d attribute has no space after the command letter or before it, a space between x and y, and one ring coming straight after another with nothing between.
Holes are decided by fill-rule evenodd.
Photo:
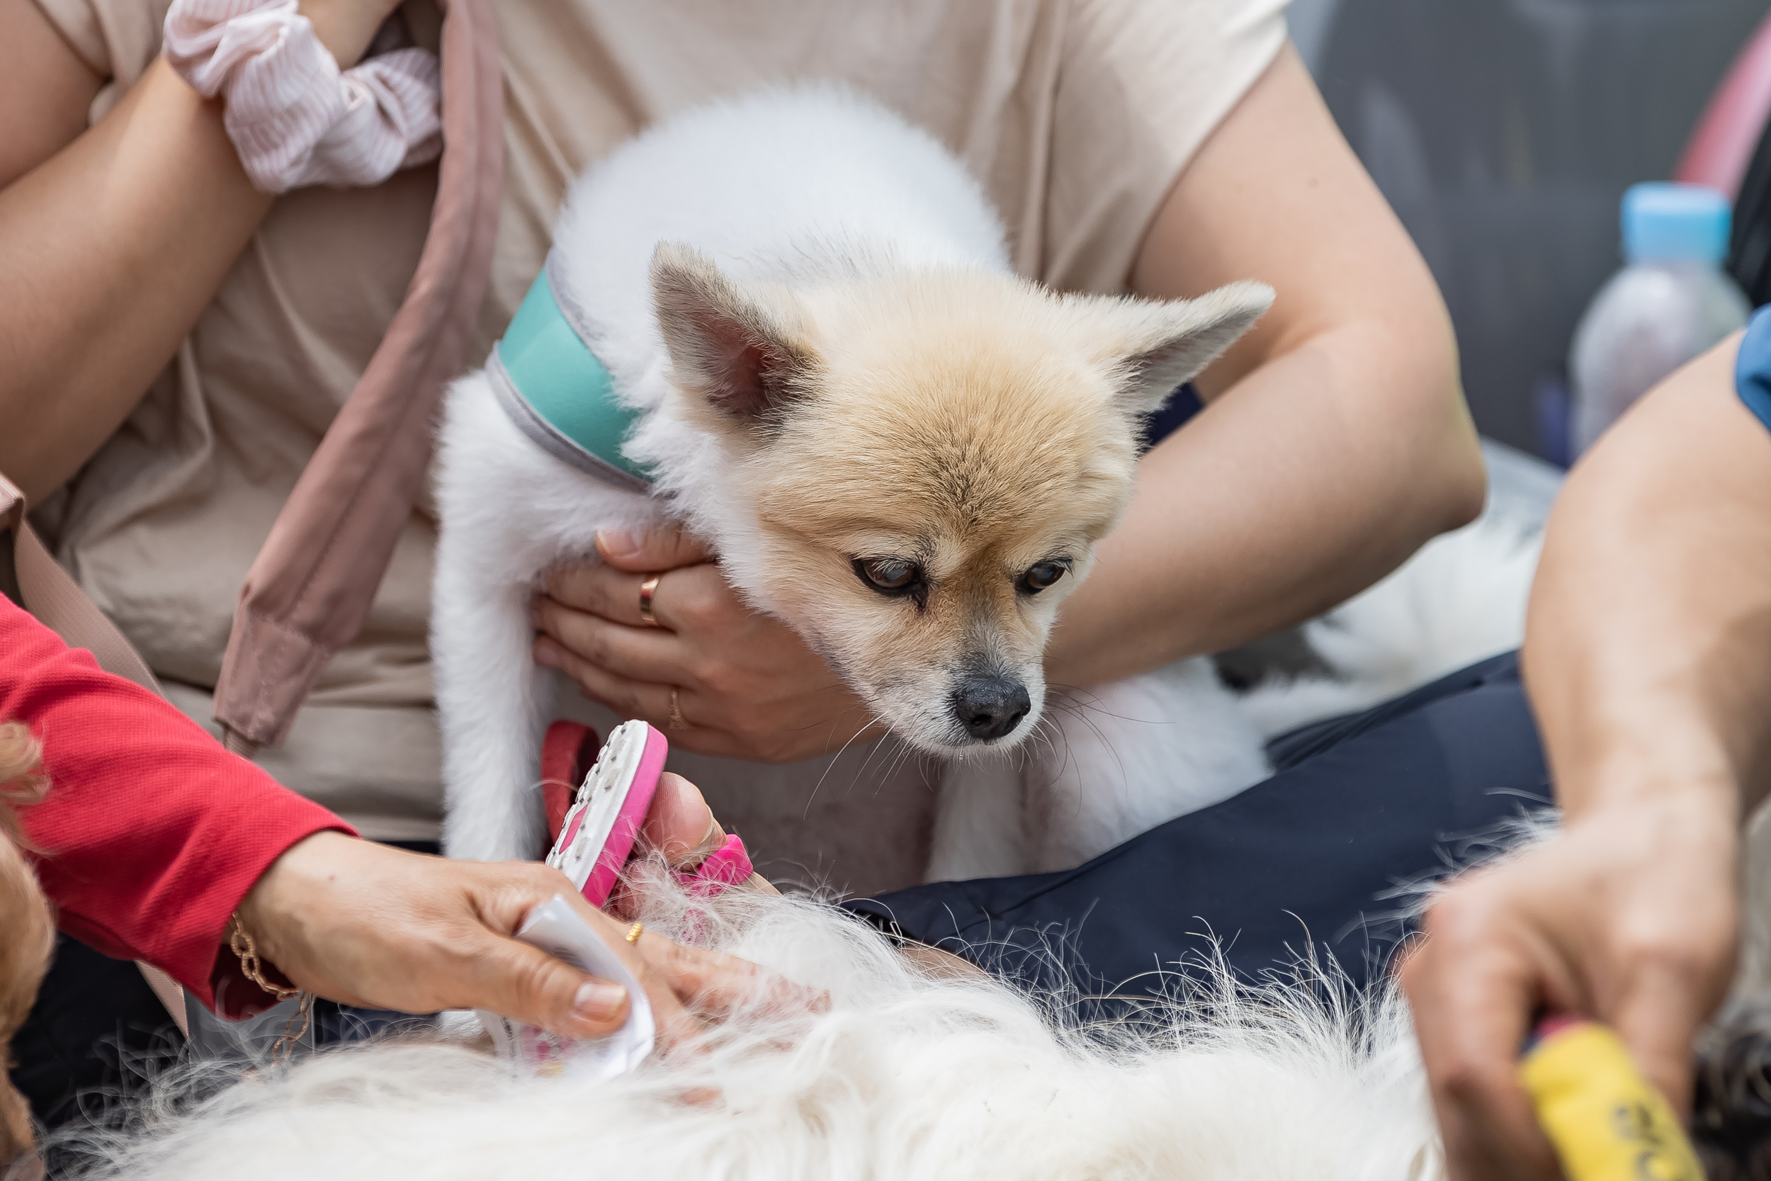
<instances>
[{"instance_id":1,"label":"dog's ear with pinkish inside, on the picture's left","mask_svg":"<svg viewBox=\"0 0 1771 1181\"><path fill-rule=\"evenodd\" d=\"M652 299L680 384L744 423L765 425L809 391L799 333L678 243L652 251Z\"/></svg>"}]
</instances>

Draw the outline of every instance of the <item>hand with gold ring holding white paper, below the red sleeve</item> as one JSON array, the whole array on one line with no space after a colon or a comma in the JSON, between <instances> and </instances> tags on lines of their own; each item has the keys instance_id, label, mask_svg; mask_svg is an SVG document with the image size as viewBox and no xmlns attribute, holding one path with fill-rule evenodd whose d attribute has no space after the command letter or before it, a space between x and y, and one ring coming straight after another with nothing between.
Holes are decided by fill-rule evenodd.
<instances>
[{"instance_id":1,"label":"hand with gold ring holding white paper, below the red sleeve","mask_svg":"<svg viewBox=\"0 0 1771 1181\"><path fill-rule=\"evenodd\" d=\"M666 1045L700 1029L691 1009L797 992L744 960L662 935L629 944L625 922L538 862L445 861L342 832L290 846L241 901L239 919L283 976L331 1000L406 1013L491 1009L572 1038L607 1034L627 1018L625 990L514 938L554 894L645 988Z\"/></svg>"}]
</instances>

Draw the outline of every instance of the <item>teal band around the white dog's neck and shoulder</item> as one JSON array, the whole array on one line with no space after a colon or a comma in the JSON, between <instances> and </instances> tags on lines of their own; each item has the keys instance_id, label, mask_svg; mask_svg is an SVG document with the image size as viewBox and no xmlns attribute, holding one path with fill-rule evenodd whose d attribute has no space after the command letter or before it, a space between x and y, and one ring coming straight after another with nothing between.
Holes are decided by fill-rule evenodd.
<instances>
[{"instance_id":1,"label":"teal band around the white dog's neck and shoulder","mask_svg":"<svg viewBox=\"0 0 1771 1181\"><path fill-rule=\"evenodd\" d=\"M652 473L622 455L639 413L615 397L615 379L584 343L583 308L558 271L560 255L549 253L492 347L492 391L510 421L554 459L604 483L646 492Z\"/></svg>"}]
</instances>

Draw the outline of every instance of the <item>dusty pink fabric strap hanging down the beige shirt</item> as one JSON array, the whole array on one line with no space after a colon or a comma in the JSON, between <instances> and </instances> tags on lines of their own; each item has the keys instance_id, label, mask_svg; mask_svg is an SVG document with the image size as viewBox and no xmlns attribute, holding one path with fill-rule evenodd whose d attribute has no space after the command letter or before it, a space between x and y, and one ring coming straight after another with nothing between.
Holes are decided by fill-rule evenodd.
<instances>
[{"instance_id":1,"label":"dusty pink fabric strap hanging down the beige shirt","mask_svg":"<svg viewBox=\"0 0 1771 1181\"><path fill-rule=\"evenodd\" d=\"M326 662L356 637L413 515L437 402L462 368L491 276L505 174L491 0L448 0L441 57L443 165L418 271L234 611L214 719L243 754L287 737Z\"/></svg>"}]
</instances>

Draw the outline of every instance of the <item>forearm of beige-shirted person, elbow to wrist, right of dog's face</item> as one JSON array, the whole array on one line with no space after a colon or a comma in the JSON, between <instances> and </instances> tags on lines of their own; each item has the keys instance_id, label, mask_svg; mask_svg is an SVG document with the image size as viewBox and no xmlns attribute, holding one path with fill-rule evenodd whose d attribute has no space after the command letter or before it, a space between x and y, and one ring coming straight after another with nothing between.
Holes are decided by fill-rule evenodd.
<instances>
[{"instance_id":1,"label":"forearm of beige-shirted person, elbow to wrist, right of dog's face","mask_svg":"<svg viewBox=\"0 0 1771 1181\"><path fill-rule=\"evenodd\" d=\"M1429 326L1433 328L1433 326ZM1350 324L1218 397L1144 457L1121 524L1064 602L1054 683L1089 685L1307 620L1482 501L1442 345Z\"/></svg>"}]
</instances>

